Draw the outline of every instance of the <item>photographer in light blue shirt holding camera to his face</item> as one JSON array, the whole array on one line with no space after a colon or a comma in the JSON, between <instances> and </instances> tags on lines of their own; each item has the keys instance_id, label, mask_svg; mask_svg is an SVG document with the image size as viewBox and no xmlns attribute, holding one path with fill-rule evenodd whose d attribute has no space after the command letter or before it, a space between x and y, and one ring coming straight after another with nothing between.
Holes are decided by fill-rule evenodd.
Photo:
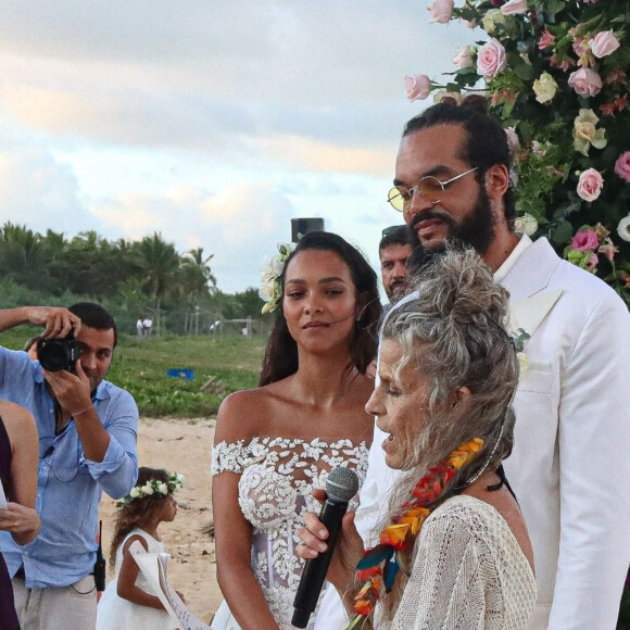
<instances>
[{"instance_id":1,"label":"photographer in light blue shirt holding camera to his face","mask_svg":"<svg viewBox=\"0 0 630 630\"><path fill-rule=\"evenodd\" d=\"M0 398L29 410L39 432L39 536L16 545L0 532L15 608L28 630L93 630L101 492L127 494L138 475L138 407L104 380L116 345L113 317L98 304L0 311L0 332L43 327L37 351L0 345Z\"/></svg>"}]
</instances>

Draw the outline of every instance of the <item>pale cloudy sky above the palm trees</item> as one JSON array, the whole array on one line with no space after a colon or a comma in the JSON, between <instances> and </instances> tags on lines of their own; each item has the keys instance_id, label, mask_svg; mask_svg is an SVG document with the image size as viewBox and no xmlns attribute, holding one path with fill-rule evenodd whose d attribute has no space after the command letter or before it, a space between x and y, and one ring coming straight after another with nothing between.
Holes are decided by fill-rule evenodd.
<instances>
[{"instance_id":1,"label":"pale cloudy sky above the palm trees","mask_svg":"<svg viewBox=\"0 0 630 630\"><path fill-rule=\"evenodd\" d=\"M10 0L0 21L0 223L203 247L257 287L290 219L376 266L403 124L479 32L427 1Z\"/></svg>"}]
</instances>

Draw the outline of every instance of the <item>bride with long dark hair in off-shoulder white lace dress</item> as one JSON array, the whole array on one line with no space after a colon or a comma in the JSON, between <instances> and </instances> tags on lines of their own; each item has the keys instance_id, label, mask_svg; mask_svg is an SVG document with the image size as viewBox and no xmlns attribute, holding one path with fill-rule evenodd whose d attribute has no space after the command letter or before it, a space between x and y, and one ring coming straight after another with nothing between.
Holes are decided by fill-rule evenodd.
<instances>
[{"instance_id":1,"label":"bride with long dark hair in off-shoulder white lace dress","mask_svg":"<svg viewBox=\"0 0 630 630\"><path fill-rule=\"evenodd\" d=\"M367 468L376 275L341 237L310 232L278 284L262 387L228 396L217 418L212 496L225 602L216 630L293 628L303 567L294 546L303 514L317 509L312 492L337 466L360 480Z\"/></svg>"}]
</instances>

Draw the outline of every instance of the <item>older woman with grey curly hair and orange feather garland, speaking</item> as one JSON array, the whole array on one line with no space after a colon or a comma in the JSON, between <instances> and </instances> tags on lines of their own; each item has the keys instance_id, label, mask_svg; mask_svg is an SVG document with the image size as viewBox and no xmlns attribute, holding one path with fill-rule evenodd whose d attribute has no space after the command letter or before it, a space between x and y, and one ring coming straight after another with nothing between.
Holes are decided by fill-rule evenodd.
<instances>
[{"instance_id":1,"label":"older woman with grey curly hair and orange feather garland, speaking","mask_svg":"<svg viewBox=\"0 0 630 630\"><path fill-rule=\"evenodd\" d=\"M404 475L373 550L344 517L327 577L350 628L528 627L532 551L501 466L518 382L507 318L507 292L472 250L437 257L388 314L366 411L388 433L388 466ZM314 514L305 525L298 555L313 558L327 531Z\"/></svg>"}]
</instances>

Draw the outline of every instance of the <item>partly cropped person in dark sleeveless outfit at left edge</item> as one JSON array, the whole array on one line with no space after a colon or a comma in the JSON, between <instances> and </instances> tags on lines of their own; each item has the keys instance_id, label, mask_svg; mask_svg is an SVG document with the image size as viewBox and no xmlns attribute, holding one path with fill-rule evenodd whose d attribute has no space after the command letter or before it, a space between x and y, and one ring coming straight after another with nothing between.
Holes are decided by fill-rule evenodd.
<instances>
[{"instance_id":1,"label":"partly cropped person in dark sleeveless outfit at left edge","mask_svg":"<svg viewBox=\"0 0 630 630\"><path fill-rule=\"evenodd\" d=\"M17 544L30 542L39 531L37 496L37 427L24 407L0 400L0 481L7 507L0 509L0 530ZM20 630L11 577L0 552L0 627Z\"/></svg>"}]
</instances>

